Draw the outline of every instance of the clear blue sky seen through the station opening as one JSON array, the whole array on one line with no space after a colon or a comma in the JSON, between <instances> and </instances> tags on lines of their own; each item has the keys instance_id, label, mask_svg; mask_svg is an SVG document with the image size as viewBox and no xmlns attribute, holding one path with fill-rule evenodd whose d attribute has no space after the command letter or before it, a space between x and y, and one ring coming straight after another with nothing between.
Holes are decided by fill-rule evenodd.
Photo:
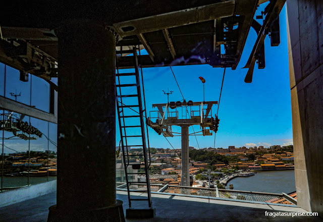
<instances>
[{"instance_id":1,"label":"clear blue sky seen through the station opening","mask_svg":"<svg viewBox=\"0 0 323 222\"><path fill-rule=\"evenodd\" d=\"M256 15L260 14L263 7L258 8ZM256 32L252 28L237 69L226 69L216 147L293 144L285 7L280 14L280 29L279 46L271 47L270 38L266 37L266 67L258 70L255 66L252 83L244 82L247 69L242 69L256 40ZM212 68L209 65L175 66L173 71L186 101L203 101L203 84L198 79L199 76L206 80L205 101L219 100L223 68ZM174 91L170 95L170 101L182 100L169 67L145 68L143 75L148 114L150 110L157 110L152 109L152 103L167 102L163 90L167 91L169 88ZM213 117L216 109L217 106L212 110ZM200 131L199 126L194 126L194 130ZM173 131L180 132L180 128L174 127ZM190 133L192 132L190 127ZM168 139L175 148L181 147L181 137ZM117 128L117 145L119 140ZM152 129L149 129L149 141L151 147L172 148L163 135L158 135ZM200 148L213 147L214 136L197 136L197 142ZM198 148L197 142L194 136L190 136L190 146Z\"/></svg>"}]
</instances>

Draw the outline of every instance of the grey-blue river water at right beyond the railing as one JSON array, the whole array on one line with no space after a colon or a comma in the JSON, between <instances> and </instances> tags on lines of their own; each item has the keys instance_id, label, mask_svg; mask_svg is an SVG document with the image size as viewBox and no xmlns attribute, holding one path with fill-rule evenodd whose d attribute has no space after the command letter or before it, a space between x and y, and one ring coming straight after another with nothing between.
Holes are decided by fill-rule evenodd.
<instances>
[{"instance_id":1,"label":"grey-blue river water at right beyond the railing","mask_svg":"<svg viewBox=\"0 0 323 222\"><path fill-rule=\"evenodd\" d=\"M234 190L245 191L291 193L296 190L294 170L257 171L254 176L237 177L228 182L228 187L229 184L233 184Z\"/></svg>"}]
</instances>

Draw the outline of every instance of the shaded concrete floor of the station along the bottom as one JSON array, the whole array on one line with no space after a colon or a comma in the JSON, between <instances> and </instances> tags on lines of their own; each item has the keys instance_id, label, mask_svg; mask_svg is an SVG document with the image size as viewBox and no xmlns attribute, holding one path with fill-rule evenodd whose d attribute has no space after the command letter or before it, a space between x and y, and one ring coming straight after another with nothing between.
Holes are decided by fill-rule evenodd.
<instances>
[{"instance_id":1,"label":"shaded concrete floor of the station along the bottom","mask_svg":"<svg viewBox=\"0 0 323 222\"><path fill-rule=\"evenodd\" d=\"M137 194L144 196L145 194ZM117 198L128 208L126 192L118 191ZM141 201L138 201L141 202ZM156 217L151 219L127 219L127 221L322 221L319 217L309 216L265 216L265 211L306 212L298 207L278 206L238 201L214 200L191 196L152 194ZM50 193L24 202L0 208L0 221L46 221L48 207L56 203L56 193Z\"/></svg>"}]
</instances>

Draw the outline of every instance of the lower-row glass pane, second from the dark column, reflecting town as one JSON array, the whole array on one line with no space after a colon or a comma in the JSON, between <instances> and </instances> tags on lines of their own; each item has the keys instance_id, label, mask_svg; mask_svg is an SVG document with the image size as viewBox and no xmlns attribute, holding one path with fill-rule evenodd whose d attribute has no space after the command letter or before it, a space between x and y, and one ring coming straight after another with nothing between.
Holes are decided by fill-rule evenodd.
<instances>
[{"instance_id":1,"label":"lower-row glass pane, second from the dark column, reflecting town","mask_svg":"<svg viewBox=\"0 0 323 222\"><path fill-rule=\"evenodd\" d=\"M30 126L36 129L30 134L29 184L32 185L47 182L48 122L31 117ZM37 136L37 130L42 135Z\"/></svg>"}]
</instances>

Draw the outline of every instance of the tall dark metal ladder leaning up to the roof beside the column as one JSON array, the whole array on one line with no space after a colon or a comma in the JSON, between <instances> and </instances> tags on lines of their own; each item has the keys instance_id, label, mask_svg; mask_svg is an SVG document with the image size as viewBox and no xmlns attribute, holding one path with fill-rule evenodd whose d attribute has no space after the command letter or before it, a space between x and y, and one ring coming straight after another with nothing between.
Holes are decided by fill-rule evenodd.
<instances>
[{"instance_id":1,"label":"tall dark metal ladder leaning up to the roof beside the column","mask_svg":"<svg viewBox=\"0 0 323 222\"><path fill-rule=\"evenodd\" d=\"M117 54L123 54L123 53L132 53L133 59L134 59L134 73L119 73L118 69L118 62L116 62L116 104L117 104L117 112L118 112L118 119L119 119L119 129L120 129L120 137L121 137L121 144L122 144L122 154L123 154L123 161L124 161L124 167L125 167L125 174L126 174L126 183L127 183L127 191L128 191L128 200L129 200L129 208L132 208L131 204L133 201L147 201L149 209L151 209L151 195L150 195L150 183L149 183L149 165L150 165L150 150L146 147L146 136L145 136L145 124L144 124L144 115L143 112L145 112L145 109L142 108L142 100L141 100L141 88L140 88L140 77L139 77L139 69L138 69L138 57L137 57L137 49L136 47L133 47L132 50L121 50L116 51ZM142 71L141 71L142 74ZM123 78L135 76L135 82L131 84L122 84ZM122 94L122 89L134 89L136 87L136 94ZM134 100L136 101L136 104L125 104L128 98L132 98L132 102ZM137 98L133 99L133 98ZM138 112L135 110L138 108ZM131 111L130 111L131 110ZM136 114L129 115L127 112L135 112ZM135 123L135 124L134 124ZM131 124L131 125L130 125ZM146 126L147 127L147 126ZM127 135L127 129L135 129L136 135ZM148 130L148 129L147 129ZM137 142L136 144L129 144L129 140L133 138L141 138L140 142ZM149 139L148 139L149 144ZM129 147L142 147L142 153L141 154L130 154L129 153ZM148 145L149 147L149 145ZM148 164L148 157L147 154L149 153L149 164ZM138 162L131 162L131 158L134 158L135 156L143 157L144 163L138 163ZM130 168L134 170L139 170L141 165L144 165L144 172L146 176L145 182L135 182L135 181L129 181L128 176L129 175L139 175L138 173L128 172ZM131 189L131 185L140 185L145 184L146 190L134 190ZM130 192L147 192L147 198L133 198L130 196Z\"/></svg>"}]
</instances>

